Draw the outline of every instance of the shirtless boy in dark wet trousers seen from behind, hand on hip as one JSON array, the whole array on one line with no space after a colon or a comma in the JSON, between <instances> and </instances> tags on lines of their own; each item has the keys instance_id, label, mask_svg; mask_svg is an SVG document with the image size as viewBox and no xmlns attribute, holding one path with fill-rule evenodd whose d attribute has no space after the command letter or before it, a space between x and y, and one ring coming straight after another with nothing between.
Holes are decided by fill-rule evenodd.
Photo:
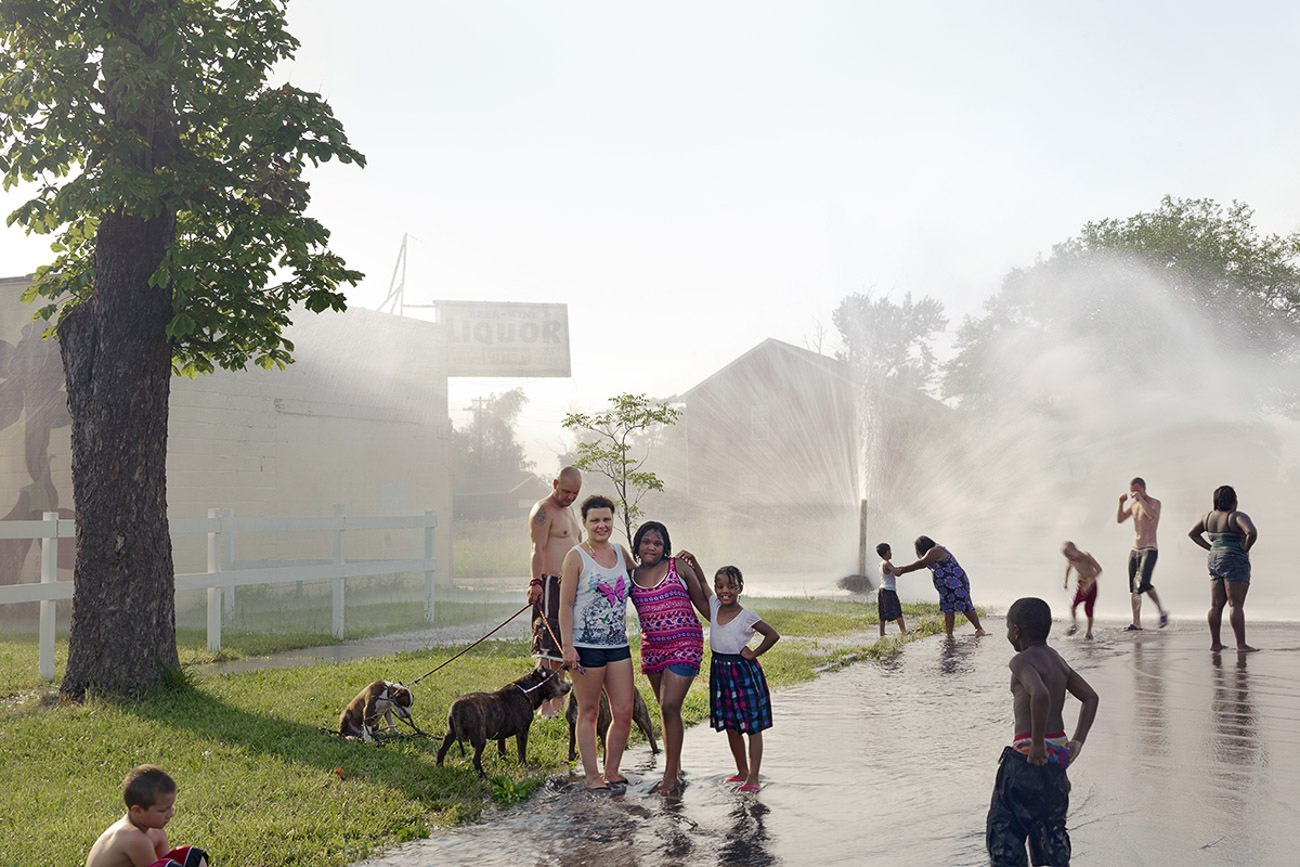
<instances>
[{"instance_id":1,"label":"shirtless boy in dark wet trousers seen from behind, hand on hip","mask_svg":"<svg viewBox=\"0 0 1300 867\"><path fill-rule=\"evenodd\" d=\"M1011 656L1011 703L1015 740L1002 750L988 807L984 842L994 867L1026 864L1024 844L1035 864L1070 863L1070 781L1065 770L1079 758L1097 715L1097 693L1048 647L1052 608L1043 599L1017 599L1006 612ZM1065 737L1065 694L1080 702L1074 737Z\"/></svg>"}]
</instances>

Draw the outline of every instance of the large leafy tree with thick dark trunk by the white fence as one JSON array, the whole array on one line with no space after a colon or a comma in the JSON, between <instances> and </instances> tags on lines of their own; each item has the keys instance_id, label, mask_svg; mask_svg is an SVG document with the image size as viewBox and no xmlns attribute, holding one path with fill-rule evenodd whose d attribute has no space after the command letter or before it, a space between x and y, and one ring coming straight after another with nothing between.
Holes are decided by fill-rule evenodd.
<instances>
[{"instance_id":1,"label":"large leafy tree with thick dark trunk by the white fence","mask_svg":"<svg viewBox=\"0 0 1300 867\"><path fill-rule=\"evenodd\" d=\"M364 164L316 94L269 87L277 0L4 0L9 216L57 237L36 272L72 415L77 565L61 690L136 694L178 664L166 516L173 372L291 361L290 308L361 276L304 216L303 172Z\"/></svg>"}]
</instances>

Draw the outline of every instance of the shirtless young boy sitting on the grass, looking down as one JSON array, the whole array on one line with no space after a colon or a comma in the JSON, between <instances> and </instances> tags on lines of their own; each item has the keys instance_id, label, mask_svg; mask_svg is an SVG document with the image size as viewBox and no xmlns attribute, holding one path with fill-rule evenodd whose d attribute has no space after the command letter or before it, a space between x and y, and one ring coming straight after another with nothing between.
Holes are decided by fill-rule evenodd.
<instances>
[{"instance_id":1,"label":"shirtless young boy sitting on the grass, looking down","mask_svg":"<svg viewBox=\"0 0 1300 867\"><path fill-rule=\"evenodd\" d=\"M169 849L166 831L176 803L176 781L152 764L131 770L122 780L126 815L99 836L86 867L208 867L196 846Z\"/></svg>"}]
</instances>

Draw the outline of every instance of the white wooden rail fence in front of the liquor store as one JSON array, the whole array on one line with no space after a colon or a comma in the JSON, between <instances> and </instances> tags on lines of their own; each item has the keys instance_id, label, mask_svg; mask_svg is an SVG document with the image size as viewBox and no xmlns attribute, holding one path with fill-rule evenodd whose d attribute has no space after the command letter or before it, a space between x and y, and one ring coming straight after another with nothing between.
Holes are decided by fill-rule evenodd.
<instances>
[{"instance_id":1,"label":"white wooden rail fence in front of the liquor store","mask_svg":"<svg viewBox=\"0 0 1300 867\"><path fill-rule=\"evenodd\" d=\"M437 516L426 511L421 515L348 516L342 506L334 507L333 517L235 517L226 510L208 510L208 517L177 519L169 521L172 536L186 533L208 534L208 571L178 573L177 590L208 591L208 650L221 650L222 597L229 610L237 586L252 584L289 584L295 581L333 582L333 632L343 637L343 599L347 578L376 575L424 572L424 619L433 621L433 580L437 560L433 556L433 530ZM347 560L346 533L350 530L422 529L424 556L411 559ZM257 569L225 569L233 563L234 538L238 533L292 533L304 530L330 530L334 534L332 563L313 565L282 565ZM58 512L46 512L40 521L0 521L0 539L40 539L40 582L0 586L0 604L20 602L40 603L40 676L55 679L55 602L73 598L73 582L58 580L60 539L75 539L77 526ZM68 542L74 543L74 542Z\"/></svg>"}]
</instances>

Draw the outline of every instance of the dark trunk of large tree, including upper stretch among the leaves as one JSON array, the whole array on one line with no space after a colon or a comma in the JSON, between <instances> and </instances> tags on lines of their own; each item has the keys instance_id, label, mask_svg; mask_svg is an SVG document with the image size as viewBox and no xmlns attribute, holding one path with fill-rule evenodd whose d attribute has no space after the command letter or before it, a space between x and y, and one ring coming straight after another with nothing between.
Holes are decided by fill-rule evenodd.
<instances>
[{"instance_id":1,"label":"dark trunk of large tree, including upper stretch among the leaves","mask_svg":"<svg viewBox=\"0 0 1300 867\"><path fill-rule=\"evenodd\" d=\"M152 175L179 147L170 84L151 16L172 0L108 0L104 113L124 133L105 161ZM152 23L157 23L156 19ZM139 695L179 668L176 573L166 516L166 422L172 385L168 286L150 286L176 235L156 201L147 217L100 217L95 285L58 325L72 415L77 565L68 672L61 694Z\"/></svg>"}]
</instances>

